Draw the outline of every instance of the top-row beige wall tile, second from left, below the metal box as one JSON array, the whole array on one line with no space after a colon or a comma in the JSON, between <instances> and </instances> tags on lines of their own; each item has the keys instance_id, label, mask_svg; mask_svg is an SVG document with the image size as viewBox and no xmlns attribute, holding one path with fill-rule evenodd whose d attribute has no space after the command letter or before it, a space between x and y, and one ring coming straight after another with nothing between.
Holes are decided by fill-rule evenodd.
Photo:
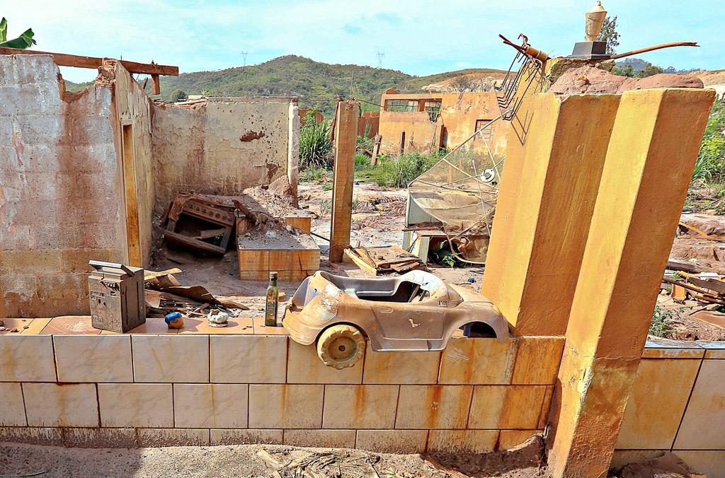
<instances>
[{"instance_id":1,"label":"top-row beige wall tile, second from left, below the metal box","mask_svg":"<svg viewBox=\"0 0 725 478\"><path fill-rule=\"evenodd\" d=\"M133 382L125 335L54 335L59 382Z\"/></svg>"}]
</instances>

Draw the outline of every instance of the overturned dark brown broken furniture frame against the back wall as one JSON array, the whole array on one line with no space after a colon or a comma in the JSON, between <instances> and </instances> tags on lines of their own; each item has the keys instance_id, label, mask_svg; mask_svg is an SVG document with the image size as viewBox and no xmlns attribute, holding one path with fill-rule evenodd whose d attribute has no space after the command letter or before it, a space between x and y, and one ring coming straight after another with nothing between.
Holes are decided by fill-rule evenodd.
<instances>
[{"instance_id":1,"label":"overturned dark brown broken furniture frame against the back wall","mask_svg":"<svg viewBox=\"0 0 725 478\"><path fill-rule=\"evenodd\" d=\"M202 196L179 195L169 211L164 240L223 256L235 222L233 208Z\"/></svg>"}]
</instances>

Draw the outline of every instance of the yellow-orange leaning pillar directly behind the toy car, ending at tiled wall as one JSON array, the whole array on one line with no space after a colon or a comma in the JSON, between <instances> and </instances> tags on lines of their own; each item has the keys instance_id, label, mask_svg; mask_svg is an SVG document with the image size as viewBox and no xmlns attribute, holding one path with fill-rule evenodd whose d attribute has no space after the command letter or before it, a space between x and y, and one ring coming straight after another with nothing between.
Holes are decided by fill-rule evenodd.
<instances>
[{"instance_id":1,"label":"yellow-orange leaning pillar directly behind the toy car, ending at tiled wall","mask_svg":"<svg viewBox=\"0 0 725 478\"><path fill-rule=\"evenodd\" d=\"M507 149L481 293L516 334L563 335L619 97L530 100L526 141Z\"/></svg>"}]
</instances>

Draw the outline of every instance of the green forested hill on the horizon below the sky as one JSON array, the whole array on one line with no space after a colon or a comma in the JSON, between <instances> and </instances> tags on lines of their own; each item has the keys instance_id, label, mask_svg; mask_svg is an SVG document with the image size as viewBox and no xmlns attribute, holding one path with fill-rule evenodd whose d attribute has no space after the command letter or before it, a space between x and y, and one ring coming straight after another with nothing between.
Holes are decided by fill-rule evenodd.
<instances>
[{"instance_id":1,"label":"green forested hill on the horizon below the sky","mask_svg":"<svg viewBox=\"0 0 725 478\"><path fill-rule=\"evenodd\" d=\"M178 77L162 76L160 96L165 101L176 89L187 95L210 96L297 96L299 106L317 106L327 117L334 112L336 96L370 101L363 103L364 111L377 111L381 94L388 88L398 91L421 92L421 88L457 75L473 72L494 72L486 68L471 68L430 76L414 76L397 70L378 69L357 64L327 64L303 56L287 55L269 62L248 67L228 68L211 72L182 73ZM86 85L86 84L83 84ZM82 85L67 82L69 91ZM146 86L150 90L151 85Z\"/></svg>"}]
</instances>

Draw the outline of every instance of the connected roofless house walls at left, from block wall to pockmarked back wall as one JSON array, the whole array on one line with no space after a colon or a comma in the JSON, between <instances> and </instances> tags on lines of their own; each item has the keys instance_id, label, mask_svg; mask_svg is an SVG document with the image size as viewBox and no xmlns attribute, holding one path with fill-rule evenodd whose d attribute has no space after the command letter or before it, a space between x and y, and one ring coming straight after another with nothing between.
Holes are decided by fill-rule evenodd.
<instances>
[{"instance_id":1,"label":"connected roofless house walls at left, from block wall to pockmarked back wall","mask_svg":"<svg viewBox=\"0 0 725 478\"><path fill-rule=\"evenodd\" d=\"M88 311L88 260L148 266L179 192L297 184L296 98L154 104L123 64L65 91L51 55L0 55L0 317Z\"/></svg>"}]
</instances>

